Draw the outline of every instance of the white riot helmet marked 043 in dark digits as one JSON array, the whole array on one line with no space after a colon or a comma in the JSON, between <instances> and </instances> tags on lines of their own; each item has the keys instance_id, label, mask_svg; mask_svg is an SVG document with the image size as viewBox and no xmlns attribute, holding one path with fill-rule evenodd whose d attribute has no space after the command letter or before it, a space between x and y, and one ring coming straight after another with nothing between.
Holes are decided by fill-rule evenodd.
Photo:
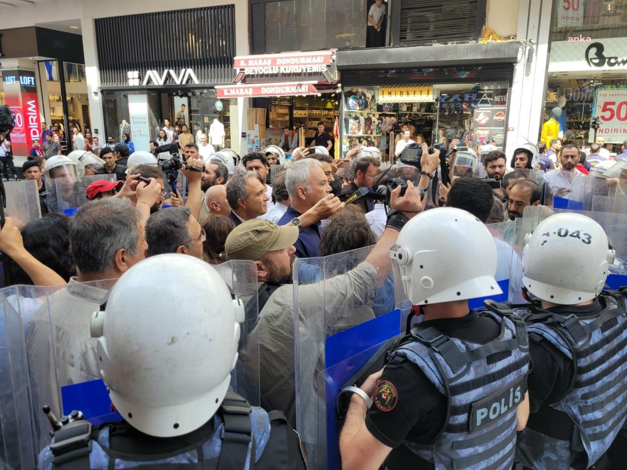
<instances>
[{"instance_id":1,"label":"white riot helmet marked 043 in dark digits","mask_svg":"<svg viewBox=\"0 0 627 470\"><path fill-rule=\"evenodd\" d=\"M555 214L525 236L522 282L542 300L575 305L601 293L614 255L608 236L593 219Z\"/></svg>"}]
</instances>

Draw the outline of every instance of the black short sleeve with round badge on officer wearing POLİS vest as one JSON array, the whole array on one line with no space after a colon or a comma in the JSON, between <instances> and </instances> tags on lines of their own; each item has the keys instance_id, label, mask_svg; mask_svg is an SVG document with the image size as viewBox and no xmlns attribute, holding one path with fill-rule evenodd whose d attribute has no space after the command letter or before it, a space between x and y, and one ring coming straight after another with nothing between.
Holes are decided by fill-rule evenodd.
<instances>
[{"instance_id":1,"label":"black short sleeve with round badge on officer wearing POL\u0130S vest","mask_svg":"<svg viewBox=\"0 0 627 470\"><path fill-rule=\"evenodd\" d=\"M384 383L387 389L381 387ZM446 397L405 358L395 357L386 365L375 391L385 394L387 401L376 395L366 415L366 428L388 447L400 446L410 431L416 433L411 441L430 442L444 424ZM389 399L391 392L396 397Z\"/></svg>"}]
</instances>

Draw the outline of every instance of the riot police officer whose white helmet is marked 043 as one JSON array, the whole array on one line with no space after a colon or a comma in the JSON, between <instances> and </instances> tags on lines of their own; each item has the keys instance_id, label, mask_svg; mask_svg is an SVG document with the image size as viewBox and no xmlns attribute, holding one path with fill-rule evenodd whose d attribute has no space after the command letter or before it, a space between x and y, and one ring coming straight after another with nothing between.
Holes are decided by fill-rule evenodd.
<instances>
[{"instance_id":1,"label":"riot police officer whose white helmet is marked 043","mask_svg":"<svg viewBox=\"0 0 627 470\"><path fill-rule=\"evenodd\" d=\"M522 280L533 370L517 456L537 470L603 468L627 415L624 299L602 292L614 249L582 214L547 217L525 238Z\"/></svg>"}]
</instances>

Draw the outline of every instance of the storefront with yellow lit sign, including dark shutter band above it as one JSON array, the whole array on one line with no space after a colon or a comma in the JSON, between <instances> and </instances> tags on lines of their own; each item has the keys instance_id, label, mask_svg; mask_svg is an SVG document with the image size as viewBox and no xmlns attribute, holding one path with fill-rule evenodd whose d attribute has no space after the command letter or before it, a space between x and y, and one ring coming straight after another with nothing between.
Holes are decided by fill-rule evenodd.
<instances>
[{"instance_id":1,"label":"storefront with yellow lit sign, including dark shutter band above it","mask_svg":"<svg viewBox=\"0 0 627 470\"><path fill-rule=\"evenodd\" d=\"M393 157L401 130L429 145L457 138L505 148L512 66L342 71L342 155L357 145Z\"/></svg>"}]
</instances>

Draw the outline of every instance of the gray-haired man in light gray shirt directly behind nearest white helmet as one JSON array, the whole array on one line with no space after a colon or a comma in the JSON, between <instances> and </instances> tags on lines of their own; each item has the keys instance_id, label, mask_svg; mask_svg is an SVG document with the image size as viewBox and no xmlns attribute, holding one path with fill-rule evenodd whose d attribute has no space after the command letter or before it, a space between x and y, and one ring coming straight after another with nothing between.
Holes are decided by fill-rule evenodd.
<instances>
[{"instance_id":1,"label":"gray-haired man in light gray shirt directly behind nearest white helmet","mask_svg":"<svg viewBox=\"0 0 627 470\"><path fill-rule=\"evenodd\" d=\"M58 385L100 379L97 340L90 334L93 312L115 280L144 259L146 248L139 211L129 199L88 202L70 219L70 249L78 276L50 295L28 325L36 408L50 405L60 416Z\"/></svg>"}]
</instances>

